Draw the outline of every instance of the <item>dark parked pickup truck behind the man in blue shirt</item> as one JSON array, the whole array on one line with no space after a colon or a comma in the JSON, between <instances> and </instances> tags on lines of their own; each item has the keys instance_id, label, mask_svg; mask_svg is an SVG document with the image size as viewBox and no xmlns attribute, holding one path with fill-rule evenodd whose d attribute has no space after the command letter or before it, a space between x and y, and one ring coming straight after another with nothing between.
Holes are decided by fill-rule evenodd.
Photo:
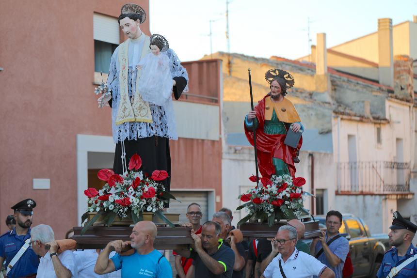
<instances>
[{"instance_id":1,"label":"dark parked pickup truck behind the man in blue shirt","mask_svg":"<svg viewBox=\"0 0 417 278\"><path fill-rule=\"evenodd\" d=\"M339 232L349 240L353 277L376 277L384 253L390 248L388 235L371 234L368 225L351 214L342 214L342 227ZM314 216L319 227L326 229L326 216Z\"/></svg>"}]
</instances>

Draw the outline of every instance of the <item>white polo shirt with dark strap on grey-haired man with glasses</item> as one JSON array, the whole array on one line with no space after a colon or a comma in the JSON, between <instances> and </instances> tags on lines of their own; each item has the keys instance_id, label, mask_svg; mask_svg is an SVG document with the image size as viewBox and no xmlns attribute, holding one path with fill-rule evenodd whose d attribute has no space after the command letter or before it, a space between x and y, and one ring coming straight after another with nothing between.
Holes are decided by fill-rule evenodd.
<instances>
[{"instance_id":1,"label":"white polo shirt with dark strap on grey-haired man with glasses","mask_svg":"<svg viewBox=\"0 0 417 278\"><path fill-rule=\"evenodd\" d=\"M324 269L327 268L325 264L320 263L320 261L313 256L304 252L299 252L297 248L295 248L294 252L285 263L281 258L281 254L278 254L278 256L273 258L272 262L263 273L265 278L282 278L281 271L279 270L279 261L281 261L282 270L286 277L320 277Z\"/></svg>"}]
</instances>

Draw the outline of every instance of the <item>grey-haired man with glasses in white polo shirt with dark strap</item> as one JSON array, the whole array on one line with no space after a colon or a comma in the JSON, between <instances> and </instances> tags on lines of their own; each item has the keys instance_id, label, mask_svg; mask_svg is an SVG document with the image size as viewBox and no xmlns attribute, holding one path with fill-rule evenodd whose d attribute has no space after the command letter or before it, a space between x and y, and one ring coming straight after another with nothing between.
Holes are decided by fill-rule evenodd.
<instances>
[{"instance_id":1,"label":"grey-haired man with glasses in white polo shirt with dark strap","mask_svg":"<svg viewBox=\"0 0 417 278\"><path fill-rule=\"evenodd\" d=\"M264 278L334 278L335 273L325 264L295 247L297 231L289 225L281 226L275 238L279 254L265 269Z\"/></svg>"}]
</instances>

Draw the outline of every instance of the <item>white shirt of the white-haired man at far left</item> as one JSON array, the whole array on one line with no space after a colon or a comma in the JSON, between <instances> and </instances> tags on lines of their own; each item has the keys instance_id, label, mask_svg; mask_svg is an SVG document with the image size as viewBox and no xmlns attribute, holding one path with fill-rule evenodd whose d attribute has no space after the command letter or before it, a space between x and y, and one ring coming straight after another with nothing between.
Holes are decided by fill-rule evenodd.
<instances>
[{"instance_id":1,"label":"white shirt of the white-haired man at far left","mask_svg":"<svg viewBox=\"0 0 417 278\"><path fill-rule=\"evenodd\" d=\"M58 255L58 258L64 267L71 271L71 277L78 278L77 265L75 264L75 257L72 251L66 250L62 252ZM41 258L36 278L56 278L53 262L49 252Z\"/></svg>"}]
</instances>

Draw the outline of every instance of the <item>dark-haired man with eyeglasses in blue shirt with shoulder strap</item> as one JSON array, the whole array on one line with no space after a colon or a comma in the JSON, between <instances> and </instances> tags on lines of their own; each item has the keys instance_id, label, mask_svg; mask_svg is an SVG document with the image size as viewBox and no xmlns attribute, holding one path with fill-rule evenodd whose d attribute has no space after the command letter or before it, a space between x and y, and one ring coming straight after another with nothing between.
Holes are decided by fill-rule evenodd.
<instances>
[{"instance_id":1,"label":"dark-haired man with eyeglasses in blue shirt with shoulder strap","mask_svg":"<svg viewBox=\"0 0 417 278\"><path fill-rule=\"evenodd\" d=\"M343 277L343 265L349 253L349 241L339 234L342 226L342 214L329 211L326 215L327 232L321 231L321 236L313 239L310 253L321 263L331 268L336 278Z\"/></svg>"}]
</instances>

